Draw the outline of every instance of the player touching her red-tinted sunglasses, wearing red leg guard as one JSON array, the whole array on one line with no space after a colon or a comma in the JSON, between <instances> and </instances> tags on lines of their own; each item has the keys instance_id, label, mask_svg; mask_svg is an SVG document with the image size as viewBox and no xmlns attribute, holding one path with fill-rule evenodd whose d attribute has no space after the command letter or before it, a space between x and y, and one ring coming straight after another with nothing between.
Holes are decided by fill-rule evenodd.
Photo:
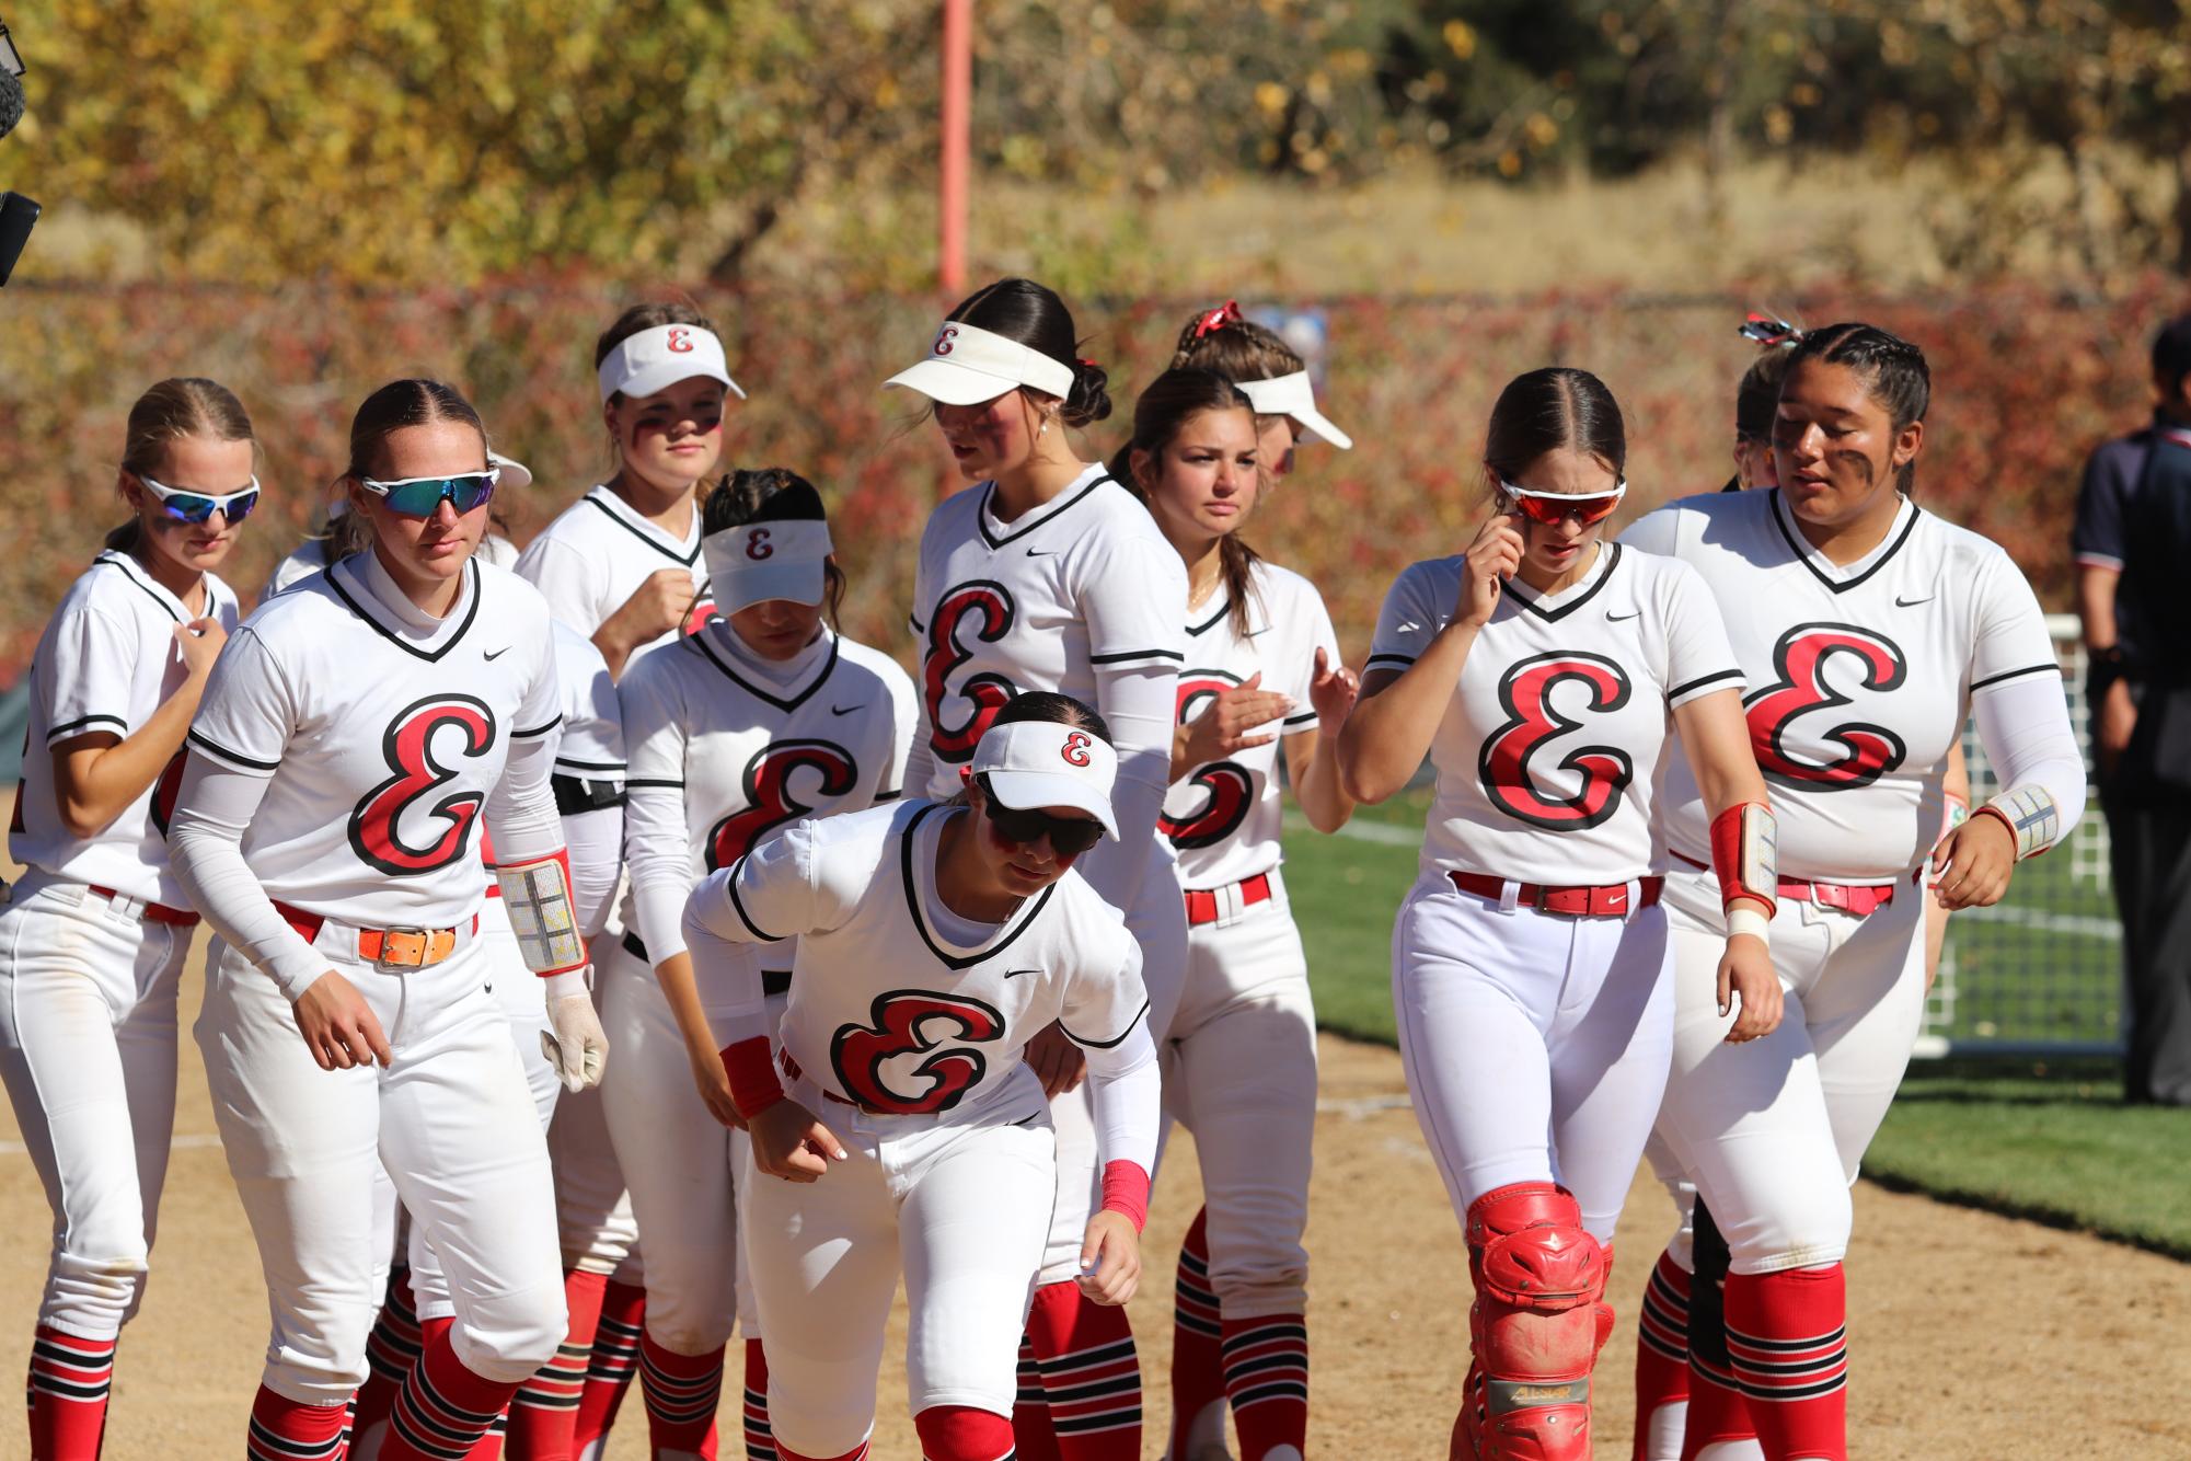
<instances>
[{"instance_id":1,"label":"player touching her red-tinted sunglasses, wearing red leg guard","mask_svg":"<svg viewBox=\"0 0 2191 1461\"><path fill-rule=\"evenodd\" d=\"M1742 672L1696 574L1599 543L1626 436L1584 370L1514 379L1483 473L1499 513L1464 556L1400 574L1347 789L1422 764L1437 793L1393 927L1400 1058L1468 1233L1475 1365L1455 1454L1591 1454L1588 1378L1613 1327L1613 1224L1665 1084L1672 1025L1652 791L1670 729L1705 786L1733 911L1718 999L1770 1029L1773 813L1742 736Z\"/></svg>"}]
</instances>

